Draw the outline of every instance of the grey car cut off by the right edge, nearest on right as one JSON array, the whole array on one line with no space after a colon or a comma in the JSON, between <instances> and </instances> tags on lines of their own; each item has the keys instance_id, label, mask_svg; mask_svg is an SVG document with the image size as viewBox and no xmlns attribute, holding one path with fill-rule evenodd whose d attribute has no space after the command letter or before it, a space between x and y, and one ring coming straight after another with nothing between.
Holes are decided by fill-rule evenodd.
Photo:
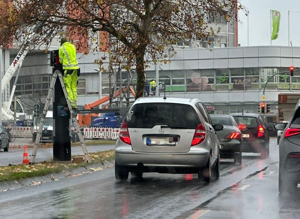
<instances>
[{"instance_id":1,"label":"grey car cut off by the right edge, nearest on right","mask_svg":"<svg viewBox=\"0 0 300 219\"><path fill-rule=\"evenodd\" d=\"M283 131L279 140L279 192L293 193L300 183L300 100L289 123L274 127Z\"/></svg>"}]
</instances>

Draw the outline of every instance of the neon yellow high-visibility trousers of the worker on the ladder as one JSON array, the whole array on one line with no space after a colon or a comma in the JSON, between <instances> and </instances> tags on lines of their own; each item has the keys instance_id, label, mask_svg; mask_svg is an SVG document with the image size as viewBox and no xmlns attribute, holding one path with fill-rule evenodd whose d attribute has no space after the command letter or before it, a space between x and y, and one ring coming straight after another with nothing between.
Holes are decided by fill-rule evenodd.
<instances>
[{"instance_id":1,"label":"neon yellow high-visibility trousers of the worker on the ladder","mask_svg":"<svg viewBox=\"0 0 300 219\"><path fill-rule=\"evenodd\" d=\"M67 95L70 100L71 106L77 105L77 71L73 70L72 74L67 74L67 70L64 70L64 86L66 87Z\"/></svg>"}]
</instances>

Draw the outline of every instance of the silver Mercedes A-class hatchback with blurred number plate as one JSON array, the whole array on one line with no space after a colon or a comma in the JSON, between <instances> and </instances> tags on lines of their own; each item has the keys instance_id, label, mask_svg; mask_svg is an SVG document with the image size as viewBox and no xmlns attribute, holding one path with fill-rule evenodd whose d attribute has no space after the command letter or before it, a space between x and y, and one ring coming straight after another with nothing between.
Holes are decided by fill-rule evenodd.
<instances>
[{"instance_id":1,"label":"silver Mercedes A-class hatchback with blurred number plate","mask_svg":"<svg viewBox=\"0 0 300 219\"><path fill-rule=\"evenodd\" d=\"M127 180L146 172L197 173L210 182L220 175L220 143L198 99L139 98L128 111L116 142L115 176Z\"/></svg>"}]
</instances>

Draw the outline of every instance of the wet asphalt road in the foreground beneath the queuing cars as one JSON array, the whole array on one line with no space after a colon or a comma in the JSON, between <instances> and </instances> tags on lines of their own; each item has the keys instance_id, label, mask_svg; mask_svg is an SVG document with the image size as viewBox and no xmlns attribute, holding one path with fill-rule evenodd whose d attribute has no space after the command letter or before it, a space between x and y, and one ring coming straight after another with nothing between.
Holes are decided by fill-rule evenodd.
<instances>
[{"instance_id":1,"label":"wet asphalt road in the foreground beneath the queuing cars","mask_svg":"<svg viewBox=\"0 0 300 219\"><path fill-rule=\"evenodd\" d=\"M146 173L115 181L114 168L0 193L0 218L298 218L300 196L278 193L278 146L270 157L223 160L210 184L197 175Z\"/></svg>"}]
</instances>

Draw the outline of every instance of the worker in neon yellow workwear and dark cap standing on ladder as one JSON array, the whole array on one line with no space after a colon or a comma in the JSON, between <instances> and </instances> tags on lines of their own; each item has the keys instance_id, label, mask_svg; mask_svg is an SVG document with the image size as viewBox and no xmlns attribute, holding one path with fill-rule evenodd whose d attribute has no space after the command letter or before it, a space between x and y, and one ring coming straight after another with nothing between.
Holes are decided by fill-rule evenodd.
<instances>
[{"instance_id":1,"label":"worker in neon yellow workwear and dark cap standing on ladder","mask_svg":"<svg viewBox=\"0 0 300 219\"><path fill-rule=\"evenodd\" d=\"M59 47L59 61L62 64L64 86L73 110L77 105L77 80L79 76L76 47L70 44L67 38L61 38ZM65 110L68 110L67 107Z\"/></svg>"}]
</instances>

